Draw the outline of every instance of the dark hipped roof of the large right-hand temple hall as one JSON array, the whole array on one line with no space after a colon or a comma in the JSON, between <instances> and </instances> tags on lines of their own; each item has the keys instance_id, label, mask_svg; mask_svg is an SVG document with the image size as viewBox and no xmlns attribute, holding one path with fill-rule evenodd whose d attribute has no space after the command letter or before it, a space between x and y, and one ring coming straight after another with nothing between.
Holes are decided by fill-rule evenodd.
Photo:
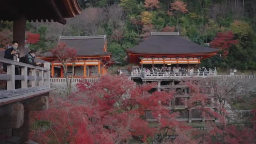
<instances>
[{"instance_id":1,"label":"dark hipped roof of the large right-hand temple hall","mask_svg":"<svg viewBox=\"0 0 256 144\"><path fill-rule=\"evenodd\" d=\"M147 40L127 51L141 54L192 54L214 53L219 49L193 43L180 37L179 32L152 32Z\"/></svg>"}]
</instances>

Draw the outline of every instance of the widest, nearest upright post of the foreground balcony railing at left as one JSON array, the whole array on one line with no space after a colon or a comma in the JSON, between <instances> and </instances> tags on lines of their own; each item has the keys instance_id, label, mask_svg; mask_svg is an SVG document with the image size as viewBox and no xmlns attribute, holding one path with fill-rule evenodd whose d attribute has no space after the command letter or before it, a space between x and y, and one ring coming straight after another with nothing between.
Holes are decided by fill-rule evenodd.
<instances>
[{"instance_id":1,"label":"widest, nearest upright post of the foreground balcony railing at left","mask_svg":"<svg viewBox=\"0 0 256 144\"><path fill-rule=\"evenodd\" d=\"M15 66L13 64L7 65L7 75L10 75L10 80L7 80L7 90L15 89Z\"/></svg>"}]
</instances>

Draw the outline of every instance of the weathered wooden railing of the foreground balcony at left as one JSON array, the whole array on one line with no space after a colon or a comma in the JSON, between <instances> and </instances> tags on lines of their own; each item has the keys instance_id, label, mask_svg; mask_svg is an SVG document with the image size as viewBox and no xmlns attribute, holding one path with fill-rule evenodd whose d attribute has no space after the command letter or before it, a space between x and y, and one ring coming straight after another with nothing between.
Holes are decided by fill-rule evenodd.
<instances>
[{"instance_id":1,"label":"weathered wooden railing of the foreground balcony at left","mask_svg":"<svg viewBox=\"0 0 256 144\"><path fill-rule=\"evenodd\" d=\"M7 81L6 90L0 91L0 98L50 88L50 63L46 62L44 67L38 67L4 58L0 58L0 62L8 64L7 74L0 75L0 80ZM17 67L21 69L21 75L15 75L15 68ZM31 69L29 76L28 68ZM38 71L39 75L37 76ZM15 80L21 80L21 88L15 89ZM31 82L31 87L28 87L28 80Z\"/></svg>"}]
</instances>

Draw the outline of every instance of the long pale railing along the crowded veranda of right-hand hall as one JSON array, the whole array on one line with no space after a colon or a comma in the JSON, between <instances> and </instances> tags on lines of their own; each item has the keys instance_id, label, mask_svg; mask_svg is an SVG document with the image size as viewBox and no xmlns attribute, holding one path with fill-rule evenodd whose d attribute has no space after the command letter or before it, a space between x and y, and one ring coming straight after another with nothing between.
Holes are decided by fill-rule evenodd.
<instances>
[{"instance_id":1,"label":"long pale railing along the crowded veranda of right-hand hall","mask_svg":"<svg viewBox=\"0 0 256 144\"><path fill-rule=\"evenodd\" d=\"M213 72L131 72L131 77L141 78L174 78L174 77L213 77Z\"/></svg>"}]
</instances>

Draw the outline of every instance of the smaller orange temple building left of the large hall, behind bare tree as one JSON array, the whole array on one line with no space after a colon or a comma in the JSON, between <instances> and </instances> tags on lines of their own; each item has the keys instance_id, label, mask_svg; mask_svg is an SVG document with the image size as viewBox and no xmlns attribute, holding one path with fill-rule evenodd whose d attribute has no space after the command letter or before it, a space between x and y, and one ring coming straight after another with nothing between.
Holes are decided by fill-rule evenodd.
<instances>
[{"instance_id":1,"label":"smaller orange temple building left of the large hall, behind bare tree","mask_svg":"<svg viewBox=\"0 0 256 144\"><path fill-rule=\"evenodd\" d=\"M107 74L111 65L111 53L107 52L107 36L61 36L59 42L67 43L68 47L77 49L74 77L100 77ZM52 77L64 77L61 61L51 52L40 53L39 59L51 62ZM54 70L60 67L60 71ZM68 62L68 75L72 74L72 62Z\"/></svg>"}]
</instances>

